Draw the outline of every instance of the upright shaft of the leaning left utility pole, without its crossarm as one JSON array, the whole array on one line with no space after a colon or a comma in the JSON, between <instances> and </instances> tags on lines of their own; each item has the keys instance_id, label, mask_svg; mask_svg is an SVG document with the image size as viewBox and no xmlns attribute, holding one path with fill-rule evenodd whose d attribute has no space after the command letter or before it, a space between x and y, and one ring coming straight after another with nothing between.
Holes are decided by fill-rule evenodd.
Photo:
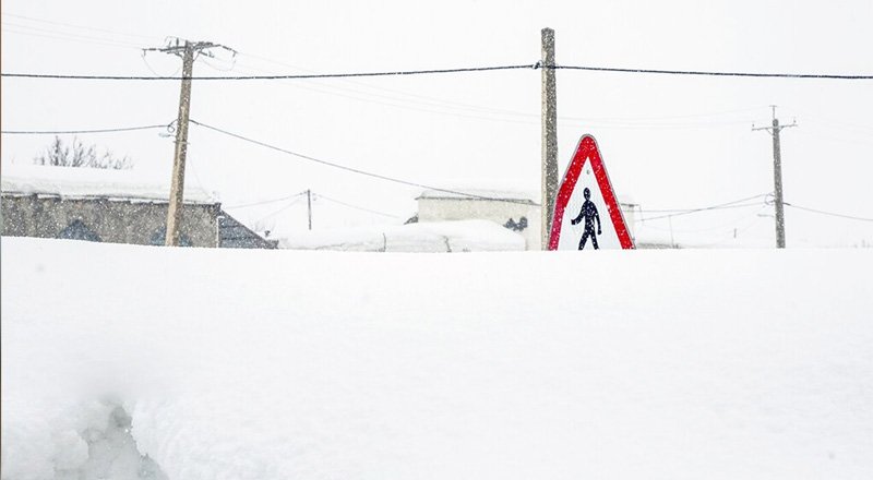
<instances>
[{"instance_id":1,"label":"upright shaft of the leaning left utility pole, without its crossarm","mask_svg":"<svg viewBox=\"0 0 873 480\"><path fill-rule=\"evenodd\" d=\"M170 205L167 212L167 237L164 244L179 245L179 227L182 224L182 197L184 194L184 160L188 154L188 118L191 112L191 73L194 70L194 49L184 43L182 56L182 92L179 96L179 118L176 122L176 155L172 159L170 181Z\"/></svg>"}]
</instances>

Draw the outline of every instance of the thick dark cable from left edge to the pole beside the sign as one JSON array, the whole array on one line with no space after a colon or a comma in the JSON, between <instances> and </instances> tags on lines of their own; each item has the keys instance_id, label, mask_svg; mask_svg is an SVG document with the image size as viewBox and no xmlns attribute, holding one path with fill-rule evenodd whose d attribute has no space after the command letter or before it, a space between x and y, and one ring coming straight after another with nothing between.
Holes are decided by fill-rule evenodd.
<instances>
[{"instance_id":1,"label":"thick dark cable from left edge to the pole beside the sign","mask_svg":"<svg viewBox=\"0 0 873 480\"><path fill-rule=\"evenodd\" d=\"M391 72L312 73L295 75L235 75L235 76L135 76L135 75L68 75L53 73L2 73L11 79L57 79L57 80L119 80L119 81L166 81L166 80L306 80L306 79L347 79L357 76L404 76L436 73L491 72L498 70L533 69L535 65L469 67L456 69L398 70Z\"/></svg>"}]
</instances>

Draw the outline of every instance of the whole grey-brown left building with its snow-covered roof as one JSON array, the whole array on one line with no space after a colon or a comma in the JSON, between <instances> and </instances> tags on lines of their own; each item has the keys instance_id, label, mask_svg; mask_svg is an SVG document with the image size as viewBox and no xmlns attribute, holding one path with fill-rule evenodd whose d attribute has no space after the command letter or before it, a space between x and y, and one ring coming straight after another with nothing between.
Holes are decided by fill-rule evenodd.
<instances>
[{"instance_id":1,"label":"whole grey-brown left building with its snow-covered roof","mask_svg":"<svg viewBox=\"0 0 873 480\"><path fill-rule=\"evenodd\" d=\"M169 181L143 182L132 170L4 168L0 235L162 245ZM186 185L184 247L275 248L232 219L216 195Z\"/></svg>"}]
</instances>

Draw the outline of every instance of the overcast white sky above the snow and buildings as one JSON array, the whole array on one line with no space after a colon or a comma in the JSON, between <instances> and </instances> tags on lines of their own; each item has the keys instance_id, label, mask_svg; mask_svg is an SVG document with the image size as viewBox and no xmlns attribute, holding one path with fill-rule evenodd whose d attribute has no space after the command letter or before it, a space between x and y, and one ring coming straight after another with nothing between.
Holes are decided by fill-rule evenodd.
<instances>
[{"instance_id":1,"label":"overcast white sky above the snow and buildings","mask_svg":"<svg viewBox=\"0 0 873 480\"><path fill-rule=\"evenodd\" d=\"M873 73L873 2L39 1L2 5L2 71L170 75L179 59L141 57L166 36L211 40L236 63L201 75L354 72L534 63L539 31L559 64L751 72ZM229 72L223 70L230 69ZM166 123L178 82L3 79L3 130ZM644 209L693 208L773 190L772 141L751 132L779 106L785 195L873 217L873 81L680 77L558 72L559 161L594 134L620 196ZM193 86L192 118L356 168L452 188L539 188L540 73L214 82ZM169 179L156 131L81 135ZM2 163L28 163L50 137L3 135ZM306 189L397 217L418 191L339 172L192 125L189 179L226 204ZM232 211L275 230L306 228L304 202ZM678 241L774 242L772 208L675 217ZM654 216L654 215L653 215ZM266 218L264 218L266 217ZM316 202L315 228L397 223ZM642 230L641 230L642 228ZM669 235L666 219L637 231ZM733 231L738 231L734 241ZM787 209L789 247L873 243L873 223Z\"/></svg>"}]
</instances>

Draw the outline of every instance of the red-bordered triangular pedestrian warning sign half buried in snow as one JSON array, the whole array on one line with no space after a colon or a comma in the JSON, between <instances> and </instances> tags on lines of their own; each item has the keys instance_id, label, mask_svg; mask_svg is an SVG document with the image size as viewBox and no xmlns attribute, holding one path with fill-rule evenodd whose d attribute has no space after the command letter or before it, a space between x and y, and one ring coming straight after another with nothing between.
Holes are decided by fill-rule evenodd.
<instances>
[{"instance_id":1,"label":"red-bordered triangular pedestrian warning sign half buried in snow","mask_svg":"<svg viewBox=\"0 0 873 480\"><path fill-rule=\"evenodd\" d=\"M558 190L549 250L633 248L597 142L583 135Z\"/></svg>"}]
</instances>

